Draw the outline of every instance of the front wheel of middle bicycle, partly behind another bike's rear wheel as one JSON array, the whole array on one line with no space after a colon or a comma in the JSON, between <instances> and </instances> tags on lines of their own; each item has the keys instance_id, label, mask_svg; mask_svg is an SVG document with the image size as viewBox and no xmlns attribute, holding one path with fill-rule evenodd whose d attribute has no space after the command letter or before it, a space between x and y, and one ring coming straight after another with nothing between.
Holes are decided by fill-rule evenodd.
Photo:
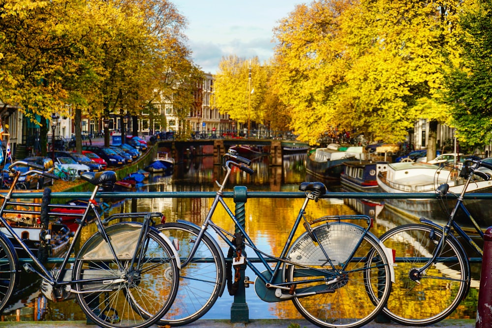
<instances>
[{"instance_id":1,"label":"front wheel of middle bicycle, partly behind another bike's rear wheel","mask_svg":"<svg viewBox=\"0 0 492 328\"><path fill-rule=\"evenodd\" d=\"M193 247L200 230L184 223L170 222L156 226L173 243L182 261ZM219 254L220 252L220 254ZM180 287L171 309L157 323L159 326L187 325L207 313L225 286L225 261L216 243L203 235L194 260L180 271ZM202 262L201 259L210 259Z\"/></svg>"}]
</instances>

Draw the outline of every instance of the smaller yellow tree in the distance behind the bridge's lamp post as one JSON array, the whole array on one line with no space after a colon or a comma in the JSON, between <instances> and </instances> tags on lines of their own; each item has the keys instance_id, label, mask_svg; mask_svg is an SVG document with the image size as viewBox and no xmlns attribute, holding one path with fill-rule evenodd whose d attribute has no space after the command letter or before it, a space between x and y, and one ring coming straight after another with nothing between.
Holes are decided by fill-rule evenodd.
<instances>
[{"instance_id":1,"label":"smaller yellow tree in the distance behind the bridge's lamp post","mask_svg":"<svg viewBox=\"0 0 492 328\"><path fill-rule=\"evenodd\" d=\"M245 128L248 122L261 124L267 81L267 69L260 65L257 57L250 60L236 55L222 58L215 75L213 105Z\"/></svg>"}]
</instances>

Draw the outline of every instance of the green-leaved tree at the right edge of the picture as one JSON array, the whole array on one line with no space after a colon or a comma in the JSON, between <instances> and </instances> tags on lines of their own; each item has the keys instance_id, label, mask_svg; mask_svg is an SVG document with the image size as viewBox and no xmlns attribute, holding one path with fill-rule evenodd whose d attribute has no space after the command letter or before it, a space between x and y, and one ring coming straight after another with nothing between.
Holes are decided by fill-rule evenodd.
<instances>
[{"instance_id":1,"label":"green-leaved tree at the right edge of the picture","mask_svg":"<svg viewBox=\"0 0 492 328\"><path fill-rule=\"evenodd\" d=\"M463 144L484 146L492 140L492 3L466 2L458 20L461 61L447 76L452 124Z\"/></svg>"}]
</instances>

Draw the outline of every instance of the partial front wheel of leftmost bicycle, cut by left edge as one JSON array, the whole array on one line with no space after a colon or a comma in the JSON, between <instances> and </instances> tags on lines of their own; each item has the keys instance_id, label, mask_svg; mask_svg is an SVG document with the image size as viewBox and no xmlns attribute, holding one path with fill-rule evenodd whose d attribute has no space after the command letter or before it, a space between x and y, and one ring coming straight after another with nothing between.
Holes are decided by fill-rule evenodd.
<instances>
[{"instance_id":1,"label":"partial front wheel of leftmost bicycle, cut by left edge","mask_svg":"<svg viewBox=\"0 0 492 328\"><path fill-rule=\"evenodd\" d=\"M8 238L0 236L0 311L7 304L18 280L18 259L12 243Z\"/></svg>"}]
</instances>

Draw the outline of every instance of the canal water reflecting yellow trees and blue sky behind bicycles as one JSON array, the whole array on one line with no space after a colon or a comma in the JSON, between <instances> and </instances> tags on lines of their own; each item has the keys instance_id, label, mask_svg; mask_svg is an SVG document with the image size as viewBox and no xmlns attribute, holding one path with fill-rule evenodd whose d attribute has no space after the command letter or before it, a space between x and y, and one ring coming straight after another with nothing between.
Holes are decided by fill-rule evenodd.
<instances>
[{"instance_id":1,"label":"canal water reflecting yellow trees and blue sky behind bicycles","mask_svg":"<svg viewBox=\"0 0 492 328\"><path fill-rule=\"evenodd\" d=\"M248 191L282 191L296 192L303 181L313 181L306 175L305 154L285 156L282 166L269 166L267 157L252 158L255 173L248 175L235 170L230 177L226 191L232 191L235 185L244 185ZM151 175L138 188L139 192L197 192L215 191L215 180L221 181L224 172L219 165L214 165L212 156L195 157L178 163L172 176ZM326 183L330 192L340 191L335 183ZM232 199L226 199L229 207L234 209ZM302 198L250 198L246 203L246 230L254 243L264 252L279 255L286 235L290 231L302 205ZM114 201L109 215L118 212L162 212L168 222L178 219L191 221L200 225L212 203L212 198L133 198ZM386 230L407 223L384 208L384 204L358 199L327 198L310 202L307 217L314 219L326 215L366 214L375 219L371 231L380 236ZM234 231L227 213L217 207L213 217L215 224ZM84 228L84 237L96 232L95 225ZM300 231L302 232L302 231ZM298 234L300 233L298 232ZM227 254L227 247L219 243ZM479 264L472 264L475 272L480 272ZM254 280L249 269L246 275ZM85 320L75 300L53 302L46 299L39 290L39 280L31 281L32 276L24 275L22 289L1 315L2 321L33 320ZM475 318L478 291L471 290L468 297L461 302L453 314L454 318ZM229 319L233 296L227 290L215 303L203 319ZM246 302L250 319L299 318L297 310L290 301L265 303L254 293L254 287L246 289Z\"/></svg>"}]
</instances>

